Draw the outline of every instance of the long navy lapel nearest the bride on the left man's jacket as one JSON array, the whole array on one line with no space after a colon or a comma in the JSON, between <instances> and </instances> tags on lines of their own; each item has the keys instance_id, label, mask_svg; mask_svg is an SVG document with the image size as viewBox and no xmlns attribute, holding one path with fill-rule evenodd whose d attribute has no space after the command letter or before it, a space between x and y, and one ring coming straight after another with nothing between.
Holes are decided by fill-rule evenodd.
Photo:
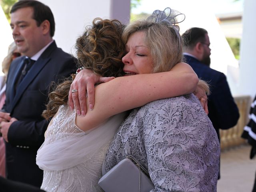
<instances>
[{"instance_id":1,"label":"long navy lapel nearest the bride on the left man's jacket","mask_svg":"<svg viewBox=\"0 0 256 192\"><path fill-rule=\"evenodd\" d=\"M17 102L20 100L20 97L24 93L24 91L28 88L28 86L32 83L32 81L38 76L42 68L49 62L50 54L52 51L57 48L56 43L53 42L48 46L48 48L42 53L42 55L38 58L38 60L33 64L33 66L28 71L28 74L24 77L24 79L20 82L16 89L16 94L14 96L12 102L11 112L14 109ZM20 74L20 73L19 73Z\"/></svg>"}]
</instances>

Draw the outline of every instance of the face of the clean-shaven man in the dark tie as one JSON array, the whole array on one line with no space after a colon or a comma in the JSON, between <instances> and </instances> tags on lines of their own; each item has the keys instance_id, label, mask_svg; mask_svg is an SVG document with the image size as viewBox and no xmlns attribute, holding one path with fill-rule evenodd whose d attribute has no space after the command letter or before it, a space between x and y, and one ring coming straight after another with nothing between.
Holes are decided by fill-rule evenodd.
<instances>
[{"instance_id":1,"label":"face of the clean-shaven man in the dark tie","mask_svg":"<svg viewBox=\"0 0 256 192\"><path fill-rule=\"evenodd\" d=\"M18 52L32 57L44 47L43 28L36 25L32 7L20 8L11 14L12 36Z\"/></svg>"}]
</instances>

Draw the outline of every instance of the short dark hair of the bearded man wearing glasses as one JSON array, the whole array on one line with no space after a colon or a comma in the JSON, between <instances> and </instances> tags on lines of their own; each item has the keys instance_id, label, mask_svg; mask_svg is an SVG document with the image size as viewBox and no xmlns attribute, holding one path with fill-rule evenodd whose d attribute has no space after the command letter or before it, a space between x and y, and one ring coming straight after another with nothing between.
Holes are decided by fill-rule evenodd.
<instances>
[{"instance_id":1,"label":"short dark hair of the bearded man wearing glasses","mask_svg":"<svg viewBox=\"0 0 256 192\"><path fill-rule=\"evenodd\" d=\"M193 27L186 30L182 34L184 47L193 49L198 42L205 42L205 34L208 34L208 32L203 28Z\"/></svg>"}]
</instances>

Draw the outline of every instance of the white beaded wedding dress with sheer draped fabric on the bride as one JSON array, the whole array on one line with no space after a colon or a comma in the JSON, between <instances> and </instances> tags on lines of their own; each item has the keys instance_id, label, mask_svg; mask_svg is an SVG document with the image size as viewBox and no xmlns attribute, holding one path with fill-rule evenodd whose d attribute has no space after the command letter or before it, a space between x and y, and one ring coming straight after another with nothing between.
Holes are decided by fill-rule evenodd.
<instances>
[{"instance_id":1,"label":"white beaded wedding dress with sheer draped fabric on the bride","mask_svg":"<svg viewBox=\"0 0 256 192\"><path fill-rule=\"evenodd\" d=\"M36 163L44 170L46 192L99 192L102 162L125 113L112 116L98 128L83 132L76 112L60 106L45 133Z\"/></svg>"}]
</instances>

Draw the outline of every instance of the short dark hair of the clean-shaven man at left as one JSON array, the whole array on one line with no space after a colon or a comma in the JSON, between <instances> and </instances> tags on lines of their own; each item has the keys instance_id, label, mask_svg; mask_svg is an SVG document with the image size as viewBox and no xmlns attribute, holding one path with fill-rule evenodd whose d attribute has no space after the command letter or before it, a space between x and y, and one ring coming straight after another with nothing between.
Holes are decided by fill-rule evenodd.
<instances>
[{"instance_id":1,"label":"short dark hair of the clean-shaven man at left","mask_svg":"<svg viewBox=\"0 0 256 192\"><path fill-rule=\"evenodd\" d=\"M51 9L47 5L36 0L21 0L12 6L10 13L16 12L18 9L25 7L32 7L34 9L33 19L36 20L37 26L40 26L40 24L45 20L50 22L50 36L53 37L55 22Z\"/></svg>"}]
</instances>

